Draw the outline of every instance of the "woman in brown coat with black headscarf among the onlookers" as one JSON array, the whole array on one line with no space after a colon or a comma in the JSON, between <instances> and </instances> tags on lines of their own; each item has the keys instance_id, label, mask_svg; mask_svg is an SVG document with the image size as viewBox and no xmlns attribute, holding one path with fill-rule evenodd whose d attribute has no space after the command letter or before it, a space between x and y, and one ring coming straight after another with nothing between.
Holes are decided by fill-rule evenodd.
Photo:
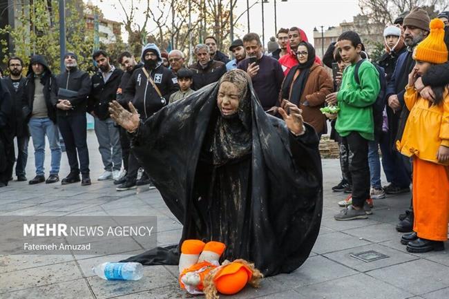
<instances>
[{"instance_id":1,"label":"woman in brown coat with black headscarf among the onlookers","mask_svg":"<svg viewBox=\"0 0 449 299\"><path fill-rule=\"evenodd\" d=\"M285 77L281 98L303 110L304 121L312 125L319 137L327 132L324 107L326 95L334 91L332 78L325 68L315 62L314 46L301 41L296 52L299 64Z\"/></svg>"}]
</instances>

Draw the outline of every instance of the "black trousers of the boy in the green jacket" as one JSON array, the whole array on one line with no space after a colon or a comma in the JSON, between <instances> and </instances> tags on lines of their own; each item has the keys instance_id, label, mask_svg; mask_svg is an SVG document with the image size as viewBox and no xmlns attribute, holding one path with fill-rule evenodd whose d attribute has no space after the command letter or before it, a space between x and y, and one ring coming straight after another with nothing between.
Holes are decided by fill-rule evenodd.
<instances>
[{"instance_id":1,"label":"black trousers of the boy in the green jacket","mask_svg":"<svg viewBox=\"0 0 449 299\"><path fill-rule=\"evenodd\" d=\"M370 166L368 165L368 141L359 133L352 132L342 138L342 143L349 149L348 167L352 185L352 204L363 207L370 198Z\"/></svg>"}]
</instances>

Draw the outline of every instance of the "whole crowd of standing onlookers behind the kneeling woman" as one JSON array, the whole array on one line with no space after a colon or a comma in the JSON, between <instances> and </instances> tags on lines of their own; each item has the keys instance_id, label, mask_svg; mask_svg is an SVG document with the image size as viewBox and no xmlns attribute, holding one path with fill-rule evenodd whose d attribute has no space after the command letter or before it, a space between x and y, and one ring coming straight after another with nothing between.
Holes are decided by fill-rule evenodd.
<instances>
[{"instance_id":1,"label":"whole crowd of standing onlookers behind the kneeling woman","mask_svg":"<svg viewBox=\"0 0 449 299\"><path fill-rule=\"evenodd\" d=\"M139 59L122 52L117 57L120 68L111 64L107 52L97 50L93 60L98 71L92 77L79 70L74 52L61 57L66 70L57 76L40 55L31 57L26 77L21 58L10 57L4 72L8 75L0 84L0 186L12 180L16 161L17 180L27 180L30 136L36 173L29 184L58 182L59 134L70 164L61 184L91 184L89 113L95 117L104 164L98 180L114 180L117 191L143 184L154 188L130 149L128 134L111 119L109 103L116 100L124 108L133 103L145 121L238 68L251 78L267 113L277 116L280 102L287 99L302 110L318 137L328 133L330 121L342 175L332 190L349 194L338 202L345 209L336 220L365 219L372 213L373 200L410 193L413 182L410 209L397 224L398 231L410 232L401 242L409 251L439 250L447 239L449 220L448 26L449 12L432 21L421 8L404 12L385 27L385 52L378 61L370 60L354 31L343 32L320 58L298 27L281 28L277 44L269 41L269 52L256 33L248 33L229 47L232 60L218 50L215 37L207 37L195 46L196 62L189 66L181 50L161 52L155 44L144 46ZM322 113L325 106L334 107L334 113ZM46 138L51 151L48 177ZM381 184L382 168L386 185Z\"/></svg>"}]
</instances>

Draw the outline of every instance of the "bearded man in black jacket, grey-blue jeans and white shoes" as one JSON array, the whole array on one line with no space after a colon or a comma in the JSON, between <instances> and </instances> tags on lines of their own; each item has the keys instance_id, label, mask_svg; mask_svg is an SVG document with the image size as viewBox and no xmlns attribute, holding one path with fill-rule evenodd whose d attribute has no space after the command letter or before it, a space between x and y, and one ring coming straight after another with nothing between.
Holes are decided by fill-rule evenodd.
<instances>
[{"instance_id":1,"label":"bearded man in black jacket, grey-blue jeans and white shoes","mask_svg":"<svg viewBox=\"0 0 449 299\"><path fill-rule=\"evenodd\" d=\"M95 135L98 139L98 150L102 155L104 172L98 177L102 180L117 180L122 168L122 148L120 133L109 115L109 103L117 98L123 70L111 66L108 53L97 50L93 60L99 71L92 76L92 90L88 101L88 112L95 117Z\"/></svg>"}]
</instances>

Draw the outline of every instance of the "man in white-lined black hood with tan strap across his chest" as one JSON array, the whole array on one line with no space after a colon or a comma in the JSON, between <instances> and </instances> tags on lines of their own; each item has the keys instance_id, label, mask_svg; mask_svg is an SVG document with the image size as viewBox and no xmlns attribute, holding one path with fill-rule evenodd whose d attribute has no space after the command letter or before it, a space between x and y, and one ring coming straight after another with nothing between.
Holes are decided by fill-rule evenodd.
<instances>
[{"instance_id":1,"label":"man in white-lined black hood with tan strap across his chest","mask_svg":"<svg viewBox=\"0 0 449 299\"><path fill-rule=\"evenodd\" d=\"M162 56L155 44L146 44L142 50L140 61L143 68L137 68L126 84L123 93L126 102L132 102L140 119L144 122L162 107L169 104L170 95L178 91L178 79L175 74L162 64ZM133 150L128 157L128 172L126 182L117 186L117 191L126 191L137 188L137 185L151 184L148 175L142 173L140 181L137 180L137 171L142 165L137 161ZM151 184L150 189L154 189Z\"/></svg>"}]
</instances>

